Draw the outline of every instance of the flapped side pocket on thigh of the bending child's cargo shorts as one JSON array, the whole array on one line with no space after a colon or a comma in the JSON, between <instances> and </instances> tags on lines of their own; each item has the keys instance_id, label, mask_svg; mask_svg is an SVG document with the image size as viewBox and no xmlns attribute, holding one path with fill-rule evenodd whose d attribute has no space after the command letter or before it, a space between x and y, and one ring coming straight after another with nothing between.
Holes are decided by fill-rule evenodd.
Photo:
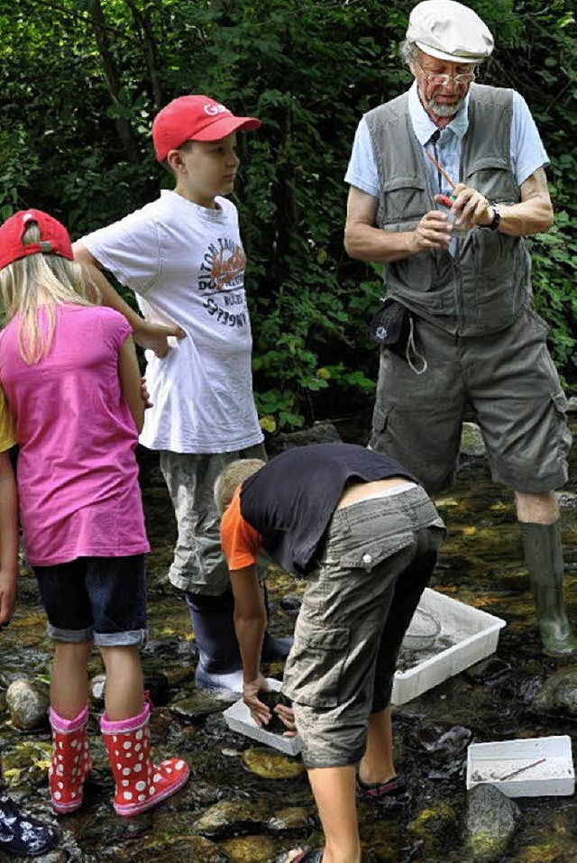
<instances>
[{"instance_id":1,"label":"flapped side pocket on thigh of the bending child's cargo shorts","mask_svg":"<svg viewBox=\"0 0 577 863\"><path fill-rule=\"evenodd\" d=\"M291 701L307 707L335 707L348 646L346 627L327 629L299 618L285 666L283 692Z\"/></svg>"}]
</instances>

